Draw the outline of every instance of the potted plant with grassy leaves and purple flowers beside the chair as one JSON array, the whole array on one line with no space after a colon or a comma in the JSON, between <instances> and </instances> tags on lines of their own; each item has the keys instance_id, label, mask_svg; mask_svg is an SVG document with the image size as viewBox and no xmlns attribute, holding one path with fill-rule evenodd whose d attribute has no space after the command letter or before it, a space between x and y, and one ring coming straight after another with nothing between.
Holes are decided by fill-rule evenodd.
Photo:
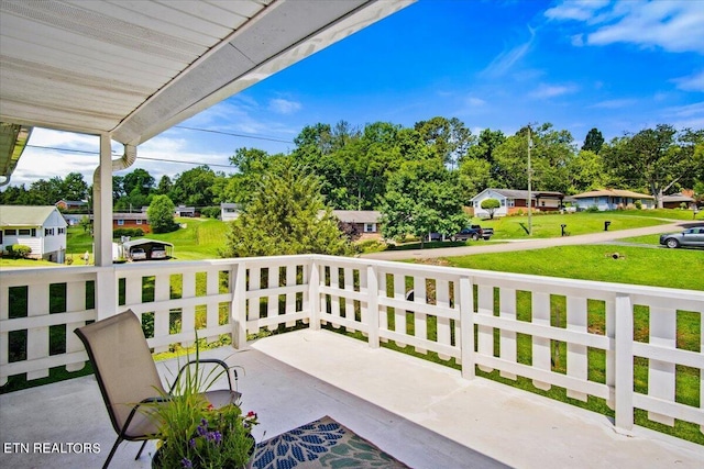
<instances>
[{"instance_id":1,"label":"potted plant with grassy leaves and purple flowers beside the chair","mask_svg":"<svg viewBox=\"0 0 704 469\"><path fill-rule=\"evenodd\" d=\"M173 392L147 406L150 418L155 420L160 428L152 468L251 468L256 414L244 414L235 402L213 407L204 390L224 371L206 375L198 356L196 346L196 360L177 377Z\"/></svg>"}]
</instances>

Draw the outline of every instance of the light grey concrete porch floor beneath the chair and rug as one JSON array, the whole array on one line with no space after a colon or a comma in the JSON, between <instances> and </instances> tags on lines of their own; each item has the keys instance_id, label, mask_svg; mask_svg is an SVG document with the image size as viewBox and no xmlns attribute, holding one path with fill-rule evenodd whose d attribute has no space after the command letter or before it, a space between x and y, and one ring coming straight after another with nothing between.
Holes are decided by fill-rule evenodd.
<instances>
[{"instance_id":1,"label":"light grey concrete porch floor beneath the chair and rug","mask_svg":"<svg viewBox=\"0 0 704 469\"><path fill-rule=\"evenodd\" d=\"M414 468L704 467L704 446L641 428L619 435L605 416L327 331L202 355L245 368L257 440L330 415ZM158 367L170 378L176 362ZM98 468L114 437L92 377L0 397L0 467ZM8 451L12 443L30 453ZM33 453L34 443L97 443L100 454ZM148 468L153 443L135 461L139 446L123 443L110 467Z\"/></svg>"}]
</instances>

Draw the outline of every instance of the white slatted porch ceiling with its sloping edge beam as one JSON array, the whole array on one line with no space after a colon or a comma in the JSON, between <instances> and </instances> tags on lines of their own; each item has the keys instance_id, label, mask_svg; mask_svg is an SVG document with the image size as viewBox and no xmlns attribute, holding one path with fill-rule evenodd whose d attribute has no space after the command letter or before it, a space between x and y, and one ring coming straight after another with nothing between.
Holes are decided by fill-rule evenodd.
<instances>
[{"instance_id":1,"label":"white slatted porch ceiling with its sloping edge beam","mask_svg":"<svg viewBox=\"0 0 704 469\"><path fill-rule=\"evenodd\" d=\"M0 122L139 145L414 1L2 0Z\"/></svg>"}]
</instances>

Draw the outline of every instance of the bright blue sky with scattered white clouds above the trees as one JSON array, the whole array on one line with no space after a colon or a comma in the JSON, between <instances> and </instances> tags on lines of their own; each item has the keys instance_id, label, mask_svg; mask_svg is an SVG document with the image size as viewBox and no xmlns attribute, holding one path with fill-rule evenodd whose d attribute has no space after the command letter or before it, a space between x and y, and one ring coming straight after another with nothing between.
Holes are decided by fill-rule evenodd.
<instances>
[{"instance_id":1,"label":"bright blue sky with scattered white clouds above the trees","mask_svg":"<svg viewBox=\"0 0 704 469\"><path fill-rule=\"evenodd\" d=\"M704 129L703 25L704 0L420 0L180 124L260 138L172 129L138 155L231 172L217 165L237 148L287 153L305 125L341 120L441 115L507 135L550 122L578 145L592 127L607 141L659 123ZM97 137L38 129L30 144L98 149ZM90 182L97 164L28 148L12 183L69 171ZM138 167L158 180L195 166L138 159L121 174Z\"/></svg>"}]
</instances>

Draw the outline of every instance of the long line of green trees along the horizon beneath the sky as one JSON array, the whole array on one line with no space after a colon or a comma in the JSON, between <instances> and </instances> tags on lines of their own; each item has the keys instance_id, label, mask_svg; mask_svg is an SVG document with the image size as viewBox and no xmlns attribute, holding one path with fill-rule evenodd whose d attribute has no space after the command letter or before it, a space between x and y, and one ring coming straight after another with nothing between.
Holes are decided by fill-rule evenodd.
<instances>
[{"instance_id":1,"label":"long line of green trees along the horizon beneath the sky","mask_svg":"<svg viewBox=\"0 0 704 469\"><path fill-rule=\"evenodd\" d=\"M460 120L438 116L413 127L388 122L355 127L344 121L306 126L288 155L237 149L230 157L231 174L204 165L173 179L163 176L157 182L148 171L135 169L113 176L113 208L140 210L155 196L199 209L220 202L246 203L254 181L280 159L292 159L318 177L321 194L333 209L380 210L387 201L387 191L394 189L389 186L392 176L399 171L447 179L460 189L459 202L468 204L490 187L527 188L529 139L535 190L574 194L610 187L650 193L656 200L682 189L704 193L703 130L678 131L660 124L607 143L597 129L592 129L580 145L570 132L550 123L527 125L514 135L491 129L474 135ZM436 165L436 170L428 165ZM410 189L413 185L405 187ZM0 193L0 203L89 201L90 194L82 176L72 172L63 179L40 179L29 188L8 187Z\"/></svg>"}]
</instances>

